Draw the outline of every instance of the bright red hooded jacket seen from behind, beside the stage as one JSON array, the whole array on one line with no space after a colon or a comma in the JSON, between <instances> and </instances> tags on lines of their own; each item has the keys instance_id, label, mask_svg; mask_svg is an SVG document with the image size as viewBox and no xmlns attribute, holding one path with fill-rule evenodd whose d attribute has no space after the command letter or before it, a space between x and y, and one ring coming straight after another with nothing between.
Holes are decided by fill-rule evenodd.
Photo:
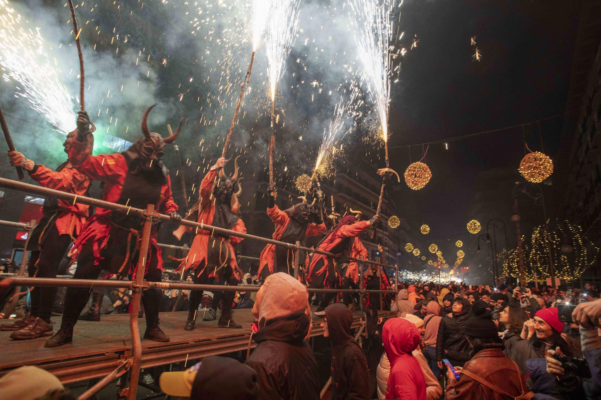
<instances>
[{"instance_id":1,"label":"bright red hooded jacket seen from behind, beside the stage","mask_svg":"<svg viewBox=\"0 0 601 400\"><path fill-rule=\"evenodd\" d=\"M382 328L382 341L391 369L386 384L386 399L426 400L426 380L412 351L419 334L404 318L390 318Z\"/></svg>"}]
</instances>

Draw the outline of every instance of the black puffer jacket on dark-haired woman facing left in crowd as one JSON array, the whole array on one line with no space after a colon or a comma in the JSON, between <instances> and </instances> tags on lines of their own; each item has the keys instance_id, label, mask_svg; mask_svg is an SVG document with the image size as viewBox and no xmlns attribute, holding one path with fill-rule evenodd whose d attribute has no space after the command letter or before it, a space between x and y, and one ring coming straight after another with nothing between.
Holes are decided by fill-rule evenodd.
<instances>
[{"instance_id":1,"label":"black puffer jacket on dark-haired woman facing left in crowd","mask_svg":"<svg viewBox=\"0 0 601 400\"><path fill-rule=\"evenodd\" d=\"M453 313L453 318L443 317L436 337L436 360L448 359L453 366L463 366L471 357L468 339L465 338L465 323L468 321L470 305L465 298L457 298L463 303L460 314Z\"/></svg>"}]
</instances>

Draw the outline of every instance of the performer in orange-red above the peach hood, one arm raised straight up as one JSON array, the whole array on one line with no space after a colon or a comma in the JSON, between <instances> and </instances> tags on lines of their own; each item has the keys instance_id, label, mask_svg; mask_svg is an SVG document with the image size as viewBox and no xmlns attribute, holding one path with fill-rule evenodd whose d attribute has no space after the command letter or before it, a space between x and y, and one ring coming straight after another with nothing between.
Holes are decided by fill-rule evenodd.
<instances>
[{"instance_id":1,"label":"performer in orange-red above the peach hood, one arm raised straight up","mask_svg":"<svg viewBox=\"0 0 601 400\"><path fill-rule=\"evenodd\" d=\"M301 203L282 211L275 204L273 187L269 186L267 192L269 192L267 215L275 224L275 232L272 235L274 240L294 244L296 241L304 241L307 237L321 235L326 231L326 225L321 220L317 208L314 207L315 200L313 204L308 204L307 198L301 196L299 197L302 199ZM267 244L261 251L257 275L265 279L275 272L288 274L294 272L294 252L287 247Z\"/></svg>"}]
</instances>

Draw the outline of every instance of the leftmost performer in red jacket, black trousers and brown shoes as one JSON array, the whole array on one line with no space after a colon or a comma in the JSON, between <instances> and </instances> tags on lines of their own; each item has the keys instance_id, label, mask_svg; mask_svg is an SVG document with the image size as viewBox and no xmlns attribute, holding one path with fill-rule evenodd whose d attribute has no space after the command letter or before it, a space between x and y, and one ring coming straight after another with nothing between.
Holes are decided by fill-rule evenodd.
<instances>
[{"instance_id":1,"label":"leftmost performer in red jacket, black trousers and brown shoes","mask_svg":"<svg viewBox=\"0 0 601 400\"><path fill-rule=\"evenodd\" d=\"M63 143L66 153L76 136L76 130L67 135ZM68 161L52 171L26 159L18 151L9 151L8 157L11 165L25 169L29 177L43 187L80 196L88 193L90 178L73 168ZM31 256L28 261L28 273L29 276L35 277L56 277L59 262L84 226L88 217L88 205L73 204L47 196L41 211L43 217L29 238L27 249L31 251ZM21 320L3 324L0 329L16 331L10 335L13 339L35 339L52 335L53 324L50 315L55 297L55 287L34 286L31 289L31 312Z\"/></svg>"}]
</instances>

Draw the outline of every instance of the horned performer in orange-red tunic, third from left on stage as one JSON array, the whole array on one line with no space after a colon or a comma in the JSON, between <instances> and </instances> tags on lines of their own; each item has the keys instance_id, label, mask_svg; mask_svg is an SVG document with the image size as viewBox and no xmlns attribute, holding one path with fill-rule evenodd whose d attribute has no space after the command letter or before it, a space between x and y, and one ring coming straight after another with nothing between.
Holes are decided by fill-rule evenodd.
<instances>
[{"instance_id":1,"label":"horned performer in orange-red tunic, third from left on stage","mask_svg":"<svg viewBox=\"0 0 601 400\"><path fill-rule=\"evenodd\" d=\"M246 233L246 226L238 215L240 209L238 196L242 193L242 187L238 180L238 157L234 160L234 175L231 178L225 175L224 166L227 161L224 158L217 160L215 165L210 168L200 184L197 210L193 211L189 217L198 213L197 221L200 223ZM174 235L181 238L185 230L180 227L174 231ZM242 271L236 262L234 246L243 239L203 229L196 229L195 233L188 256L182 261L180 268L184 268L184 270L192 268L196 274L195 283L206 284L211 279L215 284L236 285L242 278ZM242 328L241 325L234 322L232 317L231 309L235 294L234 291L216 292L211 307L205 309L203 313L203 320L215 320L219 300L222 299L221 317L219 317L217 326ZM198 305L200 305L202 297L202 290L191 291L190 311L185 330L194 329Z\"/></svg>"}]
</instances>

